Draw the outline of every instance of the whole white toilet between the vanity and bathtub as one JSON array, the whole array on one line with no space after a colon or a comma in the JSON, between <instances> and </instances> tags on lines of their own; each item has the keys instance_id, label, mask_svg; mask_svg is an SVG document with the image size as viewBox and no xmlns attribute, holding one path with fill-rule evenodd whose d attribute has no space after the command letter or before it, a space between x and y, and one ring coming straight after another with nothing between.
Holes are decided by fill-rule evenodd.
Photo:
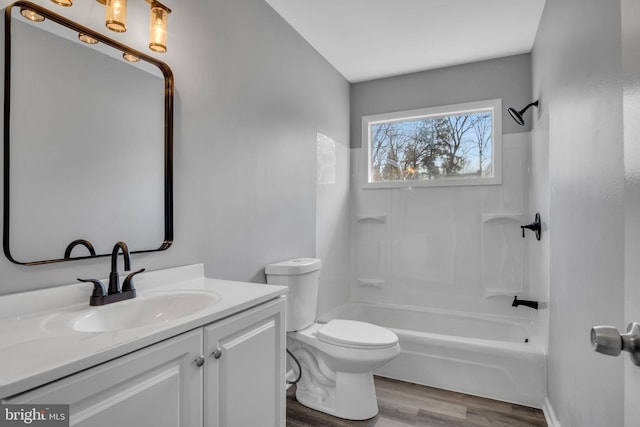
<instances>
[{"instance_id":1,"label":"whole white toilet between the vanity and bathtub","mask_svg":"<svg viewBox=\"0 0 640 427\"><path fill-rule=\"evenodd\" d=\"M354 320L317 323L320 260L297 258L265 267L267 283L287 286L287 349L300 363L296 399L349 420L378 413L373 370L400 354L398 336Z\"/></svg>"}]
</instances>

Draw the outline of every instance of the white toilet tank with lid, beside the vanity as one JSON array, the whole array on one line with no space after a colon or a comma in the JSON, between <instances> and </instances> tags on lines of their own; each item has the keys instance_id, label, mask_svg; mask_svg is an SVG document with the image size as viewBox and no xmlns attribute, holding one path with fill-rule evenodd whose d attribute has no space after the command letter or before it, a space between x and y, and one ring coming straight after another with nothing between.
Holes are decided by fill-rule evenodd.
<instances>
[{"instance_id":1,"label":"white toilet tank with lid, beside the vanity","mask_svg":"<svg viewBox=\"0 0 640 427\"><path fill-rule=\"evenodd\" d=\"M287 331L298 331L316 320L320 260L296 258L269 264L264 269L267 283L287 286Z\"/></svg>"}]
</instances>

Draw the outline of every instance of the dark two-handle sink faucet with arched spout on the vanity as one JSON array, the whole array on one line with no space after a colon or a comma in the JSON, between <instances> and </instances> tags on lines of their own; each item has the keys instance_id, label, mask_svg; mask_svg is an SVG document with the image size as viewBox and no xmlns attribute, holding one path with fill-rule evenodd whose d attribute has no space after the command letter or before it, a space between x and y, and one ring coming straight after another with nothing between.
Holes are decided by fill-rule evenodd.
<instances>
[{"instance_id":1,"label":"dark two-handle sink faucet with arched spout on the vanity","mask_svg":"<svg viewBox=\"0 0 640 427\"><path fill-rule=\"evenodd\" d=\"M124 257L124 270L131 270L131 257L129 248L124 242L118 242L111 251L111 273L109 273L109 287L98 279L78 279L80 282L93 283L93 293L89 298L89 305L105 305L112 302L124 301L136 297L136 289L133 286L133 276L142 273L145 269L140 269L129 273L122 283L120 289L120 276L118 275L118 255L122 252Z\"/></svg>"}]
</instances>

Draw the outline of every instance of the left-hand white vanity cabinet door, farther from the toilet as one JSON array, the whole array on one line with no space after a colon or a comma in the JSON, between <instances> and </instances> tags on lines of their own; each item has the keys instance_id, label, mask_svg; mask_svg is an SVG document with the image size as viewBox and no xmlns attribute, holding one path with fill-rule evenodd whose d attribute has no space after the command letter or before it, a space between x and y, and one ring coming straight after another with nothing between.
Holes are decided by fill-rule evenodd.
<instances>
[{"instance_id":1,"label":"left-hand white vanity cabinet door, farther from the toilet","mask_svg":"<svg viewBox=\"0 0 640 427\"><path fill-rule=\"evenodd\" d=\"M202 426L202 329L187 332L7 403L69 404L81 427Z\"/></svg>"}]
</instances>

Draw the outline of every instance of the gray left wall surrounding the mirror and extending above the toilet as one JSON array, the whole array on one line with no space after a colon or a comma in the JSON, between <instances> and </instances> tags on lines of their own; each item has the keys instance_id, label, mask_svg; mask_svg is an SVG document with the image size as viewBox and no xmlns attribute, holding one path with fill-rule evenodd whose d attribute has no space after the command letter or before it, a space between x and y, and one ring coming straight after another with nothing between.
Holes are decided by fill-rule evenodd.
<instances>
[{"instance_id":1,"label":"gray left wall surrounding the mirror and extending above the toilet","mask_svg":"<svg viewBox=\"0 0 640 427\"><path fill-rule=\"evenodd\" d=\"M133 267L204 262L211 277L264 281L267 262L315 256L317 133L348 141L349 83L262 0L168 5L160 58L176 80L175 241ZM131 32L107 35L146 50L130 12ZM108 271L106 258L22 267L2 257L0 293Z\"/></svg>"}]
</instances>

